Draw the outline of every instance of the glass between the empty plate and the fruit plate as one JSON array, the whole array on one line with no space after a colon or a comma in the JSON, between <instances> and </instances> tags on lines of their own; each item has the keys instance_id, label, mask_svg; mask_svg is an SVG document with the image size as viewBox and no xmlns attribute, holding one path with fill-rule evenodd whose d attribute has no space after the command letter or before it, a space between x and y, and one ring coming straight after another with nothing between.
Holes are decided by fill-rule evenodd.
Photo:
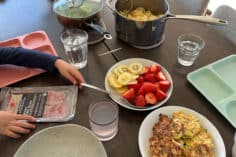
<instances>
[{"instance_id":1,"label":"glass between the empty plate and the fruit plate","mask_svg":"<svg viewBox=\"0 0 236 157\"><path fill-rule=\"evenodd\" d=\"M111 101L100 101L89 106L91 130L101 141L108 141L118 132L118 106Z\"/></svg>"}]
</instances>

